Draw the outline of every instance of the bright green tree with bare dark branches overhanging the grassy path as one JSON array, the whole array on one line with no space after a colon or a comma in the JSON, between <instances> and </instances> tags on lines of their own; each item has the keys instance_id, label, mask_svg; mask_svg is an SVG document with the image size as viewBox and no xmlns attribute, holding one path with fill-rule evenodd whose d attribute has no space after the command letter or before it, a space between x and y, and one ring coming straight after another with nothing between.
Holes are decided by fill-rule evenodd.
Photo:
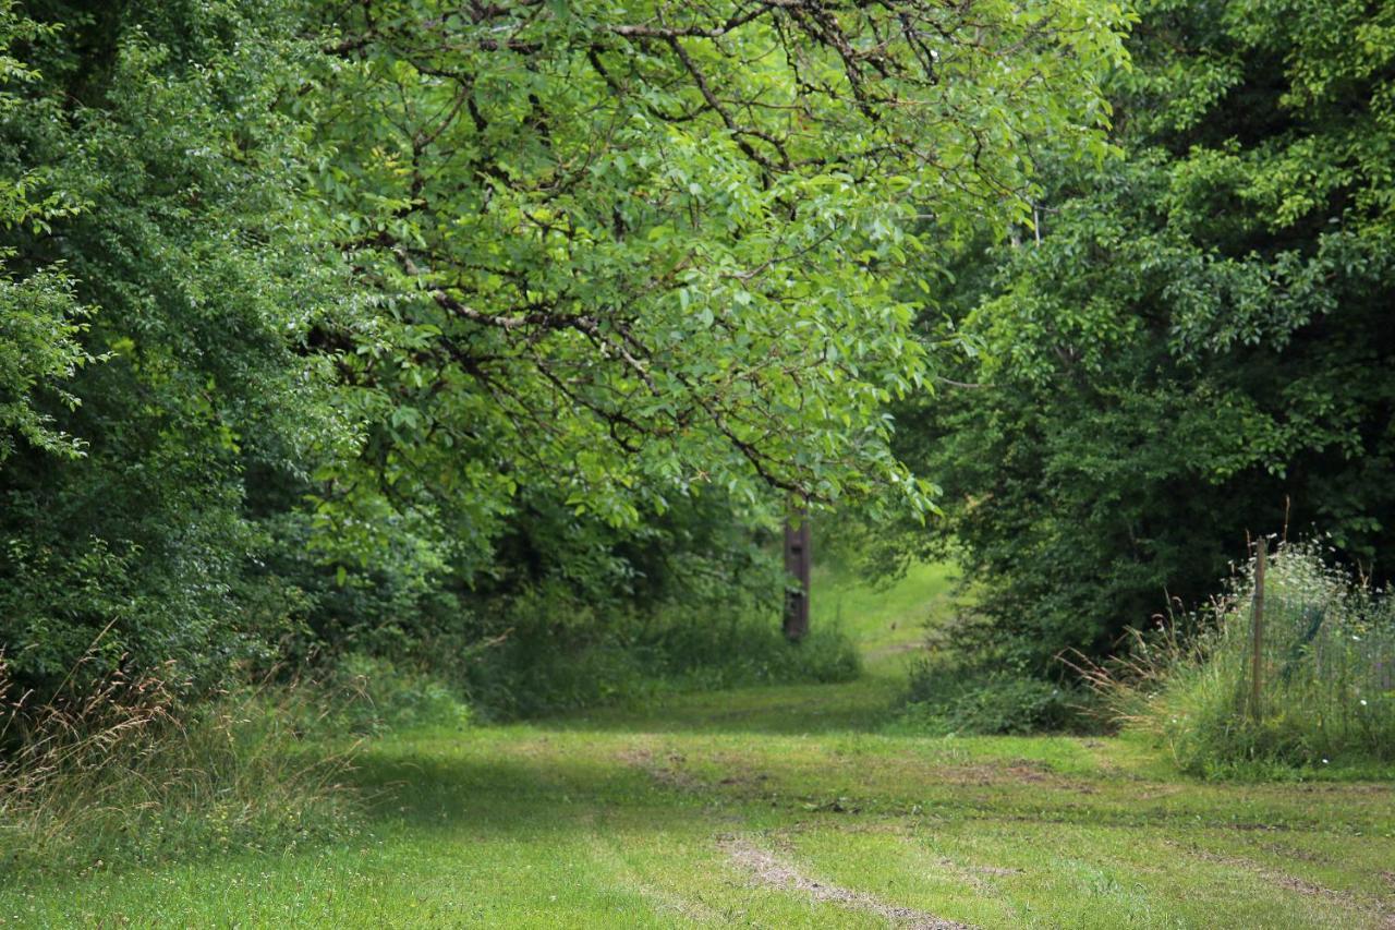
<instances>
[{"instance_id":1,"label":"bright green tree with bare dark branches overhanging the grassy path","mask_svg":"<svg viewBox=\"0 0 1395 930\"><path fill-rule=\"evenodd\" d=\"M364 489L480 542L520 487L618 526L704 487L748 511L925 508L884 416L926 369L896 293L939 246L918 216L1018 215L1032 138L1098 151L1122 18L1064 0L328 11L317 184L381 310L345 356L371 478L342 473L321 512L361 552Z\"/></svg>"}]
</instances>

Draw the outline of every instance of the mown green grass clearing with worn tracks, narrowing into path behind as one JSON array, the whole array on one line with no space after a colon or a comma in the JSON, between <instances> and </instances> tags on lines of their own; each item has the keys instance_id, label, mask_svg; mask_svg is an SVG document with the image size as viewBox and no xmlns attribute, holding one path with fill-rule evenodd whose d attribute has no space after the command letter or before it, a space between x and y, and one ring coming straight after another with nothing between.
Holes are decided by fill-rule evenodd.
<instances>
[{"instance_id":1,"label":"mown green grass clearing with worn tracks, narrowing into path behind","mask_svg":"<svg viewBox=\"0 0 1395 930\"><path fill-rule=\"evenodd\" d=\"M946 573L824 599L845 684L374 740L364 832L0 888L10 926L1395 927L1395 790L880 732Z\"/></svg>"}]
</instances>

